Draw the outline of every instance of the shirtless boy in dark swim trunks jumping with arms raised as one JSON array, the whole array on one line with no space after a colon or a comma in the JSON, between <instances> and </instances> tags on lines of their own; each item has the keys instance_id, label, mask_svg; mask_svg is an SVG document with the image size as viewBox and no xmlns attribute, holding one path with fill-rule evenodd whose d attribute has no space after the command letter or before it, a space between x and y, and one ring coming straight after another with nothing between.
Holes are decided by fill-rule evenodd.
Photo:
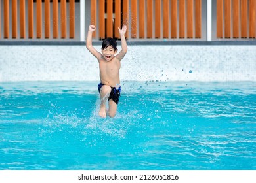
<instances>
[{"instance_id":1,"label":"shirtless boy in dark swim trunks jumping with arms raised","mask_svg":"<svg viewBox=\"0 0 256 183\"><path fill-rule=\"evenodd\" d=\"M100 84L98 84L98 92L100 93L100 111L98 114L102 118L106 118L106 99L108 99L108 116L114 118L116 116L117 104L120 97L121 87L119 79L120 61L127 52L127 43L125 41L126 25L119 29L121 37L122 50L117 53L117 43L113 38L108 37L102 42L101 53L98 52L92 44L93 31L96 30L94 25L89 26L86 40L86 48L98 59L100 66Z\"/></svg>"}]
</instances>

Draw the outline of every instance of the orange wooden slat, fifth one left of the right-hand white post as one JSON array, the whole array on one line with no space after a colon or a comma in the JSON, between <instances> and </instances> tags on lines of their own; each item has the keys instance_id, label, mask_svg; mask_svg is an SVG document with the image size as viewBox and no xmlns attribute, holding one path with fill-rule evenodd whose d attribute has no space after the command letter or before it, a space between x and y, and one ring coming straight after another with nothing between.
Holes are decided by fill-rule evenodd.
<instances>
[{"instance_id":1,"label":"orange wooden slat, fifth one left of the right-hand white post","mask_svg":"<svg viewBox=\"0 0 256 183\"><path fill-rule=\"evenodd\" d=\"M169 0L163 0L163 38L169 38L169 14L170 14Z\"/></svg>"}]
</instances>

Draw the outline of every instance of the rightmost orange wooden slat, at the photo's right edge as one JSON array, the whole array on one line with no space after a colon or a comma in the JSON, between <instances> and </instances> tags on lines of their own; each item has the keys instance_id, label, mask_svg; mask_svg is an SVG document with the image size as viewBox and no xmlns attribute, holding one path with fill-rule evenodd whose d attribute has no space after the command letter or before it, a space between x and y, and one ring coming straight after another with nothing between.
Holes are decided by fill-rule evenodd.
<instances>
[{"instance_id":1,"label":"rightmost orange wooden slat, at the photo's right edge","mask_svg":"<svg viewBox=\"0 0 256 183\"><path fill-rule=\"evenodd\" d=\"M255 38L255 0L249 0L249 38Z\"/></svg>"}]
</instances>

